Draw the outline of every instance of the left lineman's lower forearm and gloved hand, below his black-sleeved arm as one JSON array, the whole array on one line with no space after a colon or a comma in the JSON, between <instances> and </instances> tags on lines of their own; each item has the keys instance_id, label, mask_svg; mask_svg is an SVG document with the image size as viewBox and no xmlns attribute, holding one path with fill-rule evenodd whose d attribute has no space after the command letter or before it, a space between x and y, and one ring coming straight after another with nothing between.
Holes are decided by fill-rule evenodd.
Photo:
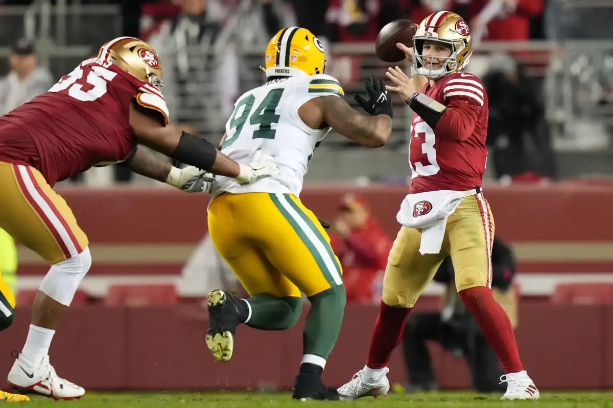
<instances>
[{"instance_id":1,"label":"left lineman's lower forearm and gloved hand, below his black-sleeved arm","mask_svg":"<svg viewBox=\"0 0 613 408\"><path fill-rule=\"evenodd\" d=\"M194 166L177 168L168 158L148 147L139 144L132 153L120 163L137 174L177 187L188 193L210 193L215 177L210 172Z\"/></svg>"}]
</instances>

